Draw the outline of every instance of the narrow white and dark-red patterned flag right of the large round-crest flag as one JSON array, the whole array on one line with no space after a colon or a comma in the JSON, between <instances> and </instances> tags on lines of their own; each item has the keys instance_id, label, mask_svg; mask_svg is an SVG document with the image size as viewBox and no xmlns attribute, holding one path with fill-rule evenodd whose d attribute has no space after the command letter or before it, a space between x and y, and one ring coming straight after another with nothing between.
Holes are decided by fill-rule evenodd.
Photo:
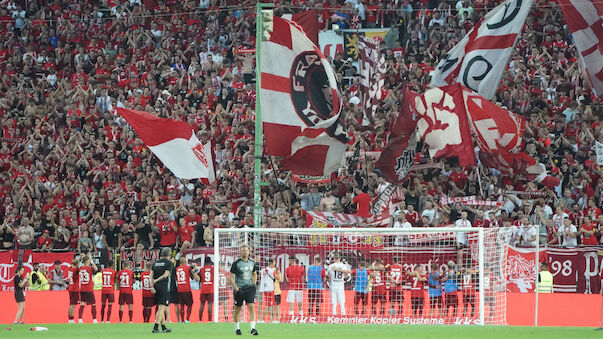
<instances>
[{"instance_id":1,"label":"narrow white and dark-red patterned flag right of the large round-crest flag","mask_svg":"<svg viewBox=\"0 0 603 339\"><path fill-rule=\"evenodd\" d=\"M358 35L358 63L360 66L360 95L362 99L363 126L375 124L375 112L381 101L385 82L385 57L379 52L379 41Z\"/></svg>"}]
</instances>

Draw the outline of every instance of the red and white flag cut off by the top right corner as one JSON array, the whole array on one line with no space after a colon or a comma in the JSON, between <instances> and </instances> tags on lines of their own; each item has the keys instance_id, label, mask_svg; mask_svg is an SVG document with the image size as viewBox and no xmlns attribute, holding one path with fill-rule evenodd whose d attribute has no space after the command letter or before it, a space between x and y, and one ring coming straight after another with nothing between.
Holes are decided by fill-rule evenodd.
<instances>
[{"instance_id":1,"label":"red and white flag cut off by the top right corner","mask_svg":"<svg viewBox=\"0 0 603 339\"><path fill-rule=\"evenodd\" d=\"M591 88L603 97L603 2L557 0L572 32Z\"/></svg>"}]
</instances>

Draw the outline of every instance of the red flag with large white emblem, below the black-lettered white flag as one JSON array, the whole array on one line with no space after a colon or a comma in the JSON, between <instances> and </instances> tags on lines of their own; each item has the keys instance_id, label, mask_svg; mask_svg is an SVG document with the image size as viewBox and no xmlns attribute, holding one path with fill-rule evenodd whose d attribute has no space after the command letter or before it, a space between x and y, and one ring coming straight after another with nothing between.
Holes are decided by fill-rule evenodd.
<instances>
[{"instance_id":1,"label":"red flag with large white emblem, below the black-lettered white flag","mask_svg":"<svg viewBox=\"0 0 603 339\"><path fill-rule=\"evenodd\" d=\"M475 166L473 140L461 85L436 87L415 98L419 135L435 158L458 158L462 167Z\"/></svg>"}]
</instances>

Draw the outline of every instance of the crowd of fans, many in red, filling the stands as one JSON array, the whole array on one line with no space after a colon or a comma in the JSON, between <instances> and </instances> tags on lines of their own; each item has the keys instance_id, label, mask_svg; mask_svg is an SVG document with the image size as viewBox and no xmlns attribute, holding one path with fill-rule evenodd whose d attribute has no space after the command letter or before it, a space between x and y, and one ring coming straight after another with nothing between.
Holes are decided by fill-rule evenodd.
<instances>
[{"instance_id":1,"label":"crowd of fans, many in red, filling the stands","mask_svg":"<svg viewBox=\"0 0 603 339\"><path fill-rule=\"evenodd\" d=\"M366 215L385 181L375 168L402 83L421 93L429 72L500 1L279 1L276 15L316 8L321 29L396 26L384 46L387 81L376 127L360 126L357 69L336 55L350 135L349 166L331 184L293 182L264 157L263 227L304 227L306 211ZM391 226L515 227L516 242L597 244L603 232L601 106L583 76L561 12L537 1L496 101L528 118L523 148L561 185L549 190L497 169L412 172ZM0 1L1 249L196 247L216 227L253 226L252 1ZM213 142L217 180L179 180L124 120L123 106L188 122ZM360 152L355 152L359 150ZM368 153L366 153L366 152ZM419 144L417 163L427 163ZM504 189L504 190L503 190ZM538 191L540 193L526 193ZM442 195L481 196L501 208L440 206ZM492 213L490 213L492 212ZM565 220L565 218L567 218ZM533 226L535 225L535 226ZM603 239L601 239L603 241Z\"/></svg>"}]
</instances>

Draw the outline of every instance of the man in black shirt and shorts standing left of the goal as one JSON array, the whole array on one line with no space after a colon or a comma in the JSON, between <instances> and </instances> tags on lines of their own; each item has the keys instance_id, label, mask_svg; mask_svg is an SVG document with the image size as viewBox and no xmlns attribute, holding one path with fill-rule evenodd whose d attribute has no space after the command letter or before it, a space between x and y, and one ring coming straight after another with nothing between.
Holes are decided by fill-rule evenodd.
<instances>
[{"instance_id":1,"label":"man in black shirt and shorts standing left of the goal","mask_svg":"<svg viewBox=\"0 0 603 339\"><path fill-rule=\"evenodd\" d=\"M157 304L153 333L159 333L159 325L161 325L161 332L172 331L165 327L165 310L166 306L170 305L170 280L171 272L174 270L171 256L172 250L164 247L161 249L161 259L153 264L152 291L155 293L155 304Z\"/></svg>"}]
</instances>

